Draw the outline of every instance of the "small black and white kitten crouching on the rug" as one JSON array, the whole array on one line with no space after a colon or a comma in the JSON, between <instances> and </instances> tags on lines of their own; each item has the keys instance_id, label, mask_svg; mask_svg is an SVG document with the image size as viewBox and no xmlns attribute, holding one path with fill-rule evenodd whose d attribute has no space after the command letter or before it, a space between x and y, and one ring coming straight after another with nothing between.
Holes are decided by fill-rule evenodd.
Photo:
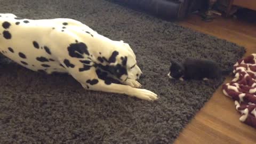
<instances>
[{"instance_id":1,"label":"small black and white kitten crouching on the rug","mask_svg":"<svg viewBox=\"0 0 256 144\"><path fill-rule=\"evenodd\" d=\"M220 79L222 75L228 75L232 70L222 70L218 63L206 59L186 59L183 63L171 60L169 78L180 79Z\"/></svg>"}]
</instances>

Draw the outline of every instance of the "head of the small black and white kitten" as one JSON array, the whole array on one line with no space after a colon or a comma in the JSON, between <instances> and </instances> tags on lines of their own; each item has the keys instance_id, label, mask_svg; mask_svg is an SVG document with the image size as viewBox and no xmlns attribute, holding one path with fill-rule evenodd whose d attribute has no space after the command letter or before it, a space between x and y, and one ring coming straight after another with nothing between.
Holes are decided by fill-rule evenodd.
<instances>
[{"instance_id":1,"label":"head of the small black and white kitten","mask_svg":"<svg viewBox=\"0 0 256 144\"><path fill-rule=\"evenodd\" d=\"M170 66L170 72L168 74L169 78L181 78L184 74L184 67L175 61L171 61L171 66Z\"/></svg>"}]
</instances>

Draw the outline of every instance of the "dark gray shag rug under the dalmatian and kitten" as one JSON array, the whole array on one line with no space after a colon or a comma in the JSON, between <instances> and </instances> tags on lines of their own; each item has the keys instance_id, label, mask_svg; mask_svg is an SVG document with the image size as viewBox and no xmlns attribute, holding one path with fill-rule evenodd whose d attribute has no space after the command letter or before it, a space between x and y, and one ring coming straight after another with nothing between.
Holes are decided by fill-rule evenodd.
<instances>
[{"instance_id":1,"label":"dark gray shag rug under the dalmatian and kitten","mask_svg":"<svg viewBox=\"0 0 256 144\"><path fill-rule=\"evenodd\" d=\"M68 75L44 75L10 63L0 71L1 143L172 143L222 81L170 81L170 59L208 58L231 68L243 47L103 0L0 1L1 13L72 18L129 43L159 95L148 102L86 91Z\"/></svg>"}]
</instances>

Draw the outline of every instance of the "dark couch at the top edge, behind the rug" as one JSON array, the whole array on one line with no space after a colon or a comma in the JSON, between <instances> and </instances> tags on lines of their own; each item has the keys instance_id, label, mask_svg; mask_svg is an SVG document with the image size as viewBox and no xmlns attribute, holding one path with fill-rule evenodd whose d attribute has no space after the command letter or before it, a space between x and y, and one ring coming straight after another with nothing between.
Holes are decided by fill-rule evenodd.
<instances>
[{"instance_id":1,"label":"dark couch at the top edge, behind the rug","mask_svg":"<svg viewBox=\"0 0 256 144\"><path fill-rule=\"evenodd\" d=\"M110 0L168 20L181 20L206 5L206 0Z\"/></svg>"}]
</instances>

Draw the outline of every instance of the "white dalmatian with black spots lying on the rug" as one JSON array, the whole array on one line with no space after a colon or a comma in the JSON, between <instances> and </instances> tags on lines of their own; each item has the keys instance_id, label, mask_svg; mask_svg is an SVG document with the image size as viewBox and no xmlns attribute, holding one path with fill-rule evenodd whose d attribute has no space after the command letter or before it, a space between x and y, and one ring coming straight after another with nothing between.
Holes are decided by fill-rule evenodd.
<instances>
[{"instance_id":1,"label":"white dalmatian with black spots lying on the rug","mask_svg":"<svg viewBox=\"0 0 256 144\"><path fill-rule=\"evenodd\" d=\"M140 89L137 79L142 72L123 41L113 41L74 19L33 20L0 13L0 23L1 53L23 67L68 73L87 90L158 99Z\"/></svg>"}]
</instances>

